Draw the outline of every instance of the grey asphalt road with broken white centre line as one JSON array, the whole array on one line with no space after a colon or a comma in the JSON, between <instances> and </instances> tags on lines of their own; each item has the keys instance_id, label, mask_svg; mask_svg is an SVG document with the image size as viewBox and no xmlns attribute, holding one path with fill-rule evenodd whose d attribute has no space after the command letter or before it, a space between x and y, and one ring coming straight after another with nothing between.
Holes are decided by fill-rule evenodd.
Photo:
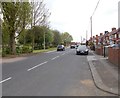
<instances>
[{"instance_id":1,"label":"grey asphalt road with broken white centre line","mask_svg":"<svg viewBox=\"0 0 120 98\"><path fill-rule=\"evenodd\" d=\"M87 55L75 49L3 63L2 75L3 96L111 96L95 86Z\"/></svg>"}]
</instances>

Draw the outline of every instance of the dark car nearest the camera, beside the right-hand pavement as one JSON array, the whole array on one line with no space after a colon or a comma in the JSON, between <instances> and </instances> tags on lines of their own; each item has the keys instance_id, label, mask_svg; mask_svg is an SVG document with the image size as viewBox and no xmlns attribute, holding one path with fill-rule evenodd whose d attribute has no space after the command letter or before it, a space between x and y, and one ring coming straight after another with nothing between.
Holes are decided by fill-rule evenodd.
<instances>
[{"instance_id":1,"label":"dark car nearest the camera, beside the right-hand pavement","mask_svg":"<svg viewBox=\"0 0 120 98\"><path fill-rule=\"evenodd\" d=\"M78 48L76 49L76 55L78 54L86 54L88 55L89 49L86 45L79 45Z\"/></svg>"}]
</instances>

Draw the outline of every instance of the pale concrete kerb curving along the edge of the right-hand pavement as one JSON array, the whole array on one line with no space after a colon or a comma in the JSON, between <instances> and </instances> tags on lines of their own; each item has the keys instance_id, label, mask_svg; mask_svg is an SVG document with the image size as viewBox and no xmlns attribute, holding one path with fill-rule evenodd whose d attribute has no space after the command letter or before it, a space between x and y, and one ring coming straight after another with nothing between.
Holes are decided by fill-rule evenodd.
<instances>
[{"instance_id":1,"label":"pale concrete kerb curving along the edge of the right-hand pavement","mask_svg":"<svg viewBox=\"0 0 120 98\"><path fill-rule=\"evenodd\" d=\"M89 65L90 65L90 70L91 70L92 77L93 77L93 80L94 80L96 87L105 91L105 92L108 92L108 93L111 93L114 95L119 95L118 89L109 88L103 83L100 75L98 74L96 68L94 67L94 65L92 63L92 61L94 60L94 57L95 56L88 56L87 59L88 59Z\"/></svg>"}]
</instances>

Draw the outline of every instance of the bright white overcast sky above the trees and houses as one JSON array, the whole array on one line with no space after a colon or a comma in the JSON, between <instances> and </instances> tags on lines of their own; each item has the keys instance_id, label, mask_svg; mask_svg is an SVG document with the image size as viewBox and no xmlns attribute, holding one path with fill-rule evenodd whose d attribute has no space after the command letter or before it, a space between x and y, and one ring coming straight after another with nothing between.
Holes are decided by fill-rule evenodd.
<instances>
[{"instance_id":1,"label":"bright white overcast sky above the trees and houses","mask_svg":"<svg viewBox=\"0 0 120 98\"><path fill-rule=\"evenodd\" d=\"M118 2L120 0L100 0L93 15L93 35L118 28ZM82 38L91 36L90 17L98 0L44 0L51 16L50 27L61 33L68 32L73 41L80 42Z\"/></svg>"}]
</instances>

